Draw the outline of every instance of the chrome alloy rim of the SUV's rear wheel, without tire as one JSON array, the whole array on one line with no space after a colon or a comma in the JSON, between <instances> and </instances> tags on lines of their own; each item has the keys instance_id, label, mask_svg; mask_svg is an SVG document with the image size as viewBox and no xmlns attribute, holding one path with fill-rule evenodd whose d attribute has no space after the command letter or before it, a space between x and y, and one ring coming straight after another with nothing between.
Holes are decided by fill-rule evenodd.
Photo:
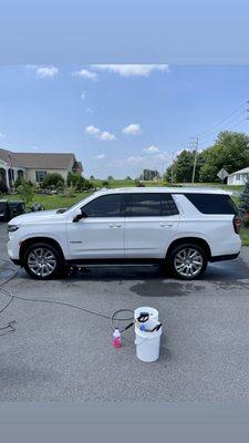
<instances>
[{"instance_id":1,"label":"chrome alloy rim of the SUV's rear wheel, without tire","mask_svg":"<svg viewBox=\"0 0 249 443\"><path fill-rule=\"evenodd\" d=\"M180 249L176 254L174 259L174 266L183 277L195 277L197 276L204 266L204 259L201 254L194 248Z\"/></svg>"}]
</instances>

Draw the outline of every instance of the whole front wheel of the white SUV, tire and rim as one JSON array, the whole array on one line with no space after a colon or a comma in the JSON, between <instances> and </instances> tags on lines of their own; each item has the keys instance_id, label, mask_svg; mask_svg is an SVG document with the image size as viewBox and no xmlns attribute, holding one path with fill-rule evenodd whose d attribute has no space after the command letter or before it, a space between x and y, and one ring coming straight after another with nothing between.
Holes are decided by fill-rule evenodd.
<instances>
[{"instance_id":1,"label":"whole front wheel of the white SUV, tire and rim","mask_svg":"<svg viewBox=\"0 0 249 443\"><path fill-rule=\"evenodd\" d=\"M64 258L61 251L45 243L37 243L27 249L24 254L24 269L39 280L48 280L58 277L64 271Z\"/></svg>"}]
</instances>

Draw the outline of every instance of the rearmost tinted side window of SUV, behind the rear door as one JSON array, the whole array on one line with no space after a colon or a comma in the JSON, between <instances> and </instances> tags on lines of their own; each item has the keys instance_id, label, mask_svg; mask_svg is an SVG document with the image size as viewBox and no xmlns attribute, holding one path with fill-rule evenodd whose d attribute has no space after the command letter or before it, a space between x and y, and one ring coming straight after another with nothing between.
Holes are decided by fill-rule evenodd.
<instances>
[{"instance_id":1,"label":"rearmost tinted side window of SUV, behind the rear door","mask_svg":"<svg viewBox=\"0 0 249 443\"><path fill-rule=\"evenodd\" d=\"M238 214L237 206L229 195L185 194L185 197L203 214Z\"/></svg>"}]
</instances>

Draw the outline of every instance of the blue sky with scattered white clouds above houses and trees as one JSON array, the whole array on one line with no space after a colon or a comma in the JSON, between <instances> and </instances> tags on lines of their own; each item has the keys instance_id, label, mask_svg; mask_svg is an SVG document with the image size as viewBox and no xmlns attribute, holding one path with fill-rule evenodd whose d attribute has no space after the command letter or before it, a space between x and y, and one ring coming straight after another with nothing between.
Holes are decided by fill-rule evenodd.
<instances>
[{"instance_id":1,"label":"blue sky with scattered white clouds above houses and trees","mask_svg":"<svg viewBox=\"0 0 249 443\"><path fill-rule=\"evenodd\" d=\"M236 65L1 66L0 146L74 152L85 176L162 172L193 136L249 132L248 82Z\"/></svg>"}]
</instances>

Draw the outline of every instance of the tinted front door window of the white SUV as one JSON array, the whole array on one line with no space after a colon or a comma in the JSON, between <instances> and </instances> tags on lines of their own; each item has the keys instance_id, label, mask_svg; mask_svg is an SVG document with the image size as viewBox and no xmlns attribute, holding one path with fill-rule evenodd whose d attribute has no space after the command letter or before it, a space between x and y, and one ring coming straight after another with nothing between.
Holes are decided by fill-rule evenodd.
<instances>
[{"instance_id":1,"label":"tinted front door window of the white SUV","mask_svg":"<svg viewBox=\"0 0 249 443\"><path fill-rule=\"evenodd\" d=\"M121 194L103 195L82 207L87 217L122 217L121 209Z\"/></svg>"}]
</instances>

